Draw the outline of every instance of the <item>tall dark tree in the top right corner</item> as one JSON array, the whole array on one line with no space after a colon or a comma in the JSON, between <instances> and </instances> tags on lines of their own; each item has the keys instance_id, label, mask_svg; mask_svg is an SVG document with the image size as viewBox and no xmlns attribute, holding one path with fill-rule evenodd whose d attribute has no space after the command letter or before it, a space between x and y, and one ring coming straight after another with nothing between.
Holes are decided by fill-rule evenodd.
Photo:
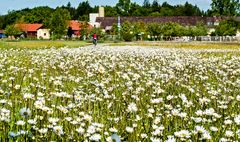
<instances>
[{"instance_id":1,"label":"tall dark tree in the top right corner","mask_svg":"<svg viewBox=\"0 0 240 142\"><path fill-rule=\"evenodd\" d=\"M240 13L239 0L212 0L213 15L234 16Z\"/></svg>"}]
</instances>

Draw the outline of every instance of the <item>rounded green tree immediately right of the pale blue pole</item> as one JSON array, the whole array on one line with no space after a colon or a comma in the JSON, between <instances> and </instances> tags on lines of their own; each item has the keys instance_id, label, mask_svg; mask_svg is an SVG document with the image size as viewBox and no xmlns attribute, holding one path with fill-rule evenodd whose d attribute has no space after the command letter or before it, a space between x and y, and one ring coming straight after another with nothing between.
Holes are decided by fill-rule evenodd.
<instances>
[{"instance_id":1,"label":"rounded green tree immediately right of the pale blue pole","mask_svg":"<svg viewBox=\"0 0 240 142\"><path fill-rule=\"evenodd\" d=\"M121 26L121 37L124 41L132 41L133 34L133 26L130 22L125 21Z\"/></svg>"}]
</instances>

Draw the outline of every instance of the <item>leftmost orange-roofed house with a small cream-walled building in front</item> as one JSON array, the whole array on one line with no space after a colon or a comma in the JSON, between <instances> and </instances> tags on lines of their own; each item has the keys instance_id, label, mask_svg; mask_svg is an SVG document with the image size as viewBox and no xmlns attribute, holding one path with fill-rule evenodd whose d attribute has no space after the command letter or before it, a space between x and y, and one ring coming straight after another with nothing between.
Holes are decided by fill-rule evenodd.
<instances>
[{"instance_id":1,"label":"leftmost orange-roofed house with a small cream-walled building in front","mask_svg":"<svg viewBox=\"0 0 240 142\"><path fill-rule=\"evenodd\" d=\"M43 29L43 24L16 24L15 27L23 32L22 36L26 38L50 38L49 29Z\"/></svg>"}]
</instances>

